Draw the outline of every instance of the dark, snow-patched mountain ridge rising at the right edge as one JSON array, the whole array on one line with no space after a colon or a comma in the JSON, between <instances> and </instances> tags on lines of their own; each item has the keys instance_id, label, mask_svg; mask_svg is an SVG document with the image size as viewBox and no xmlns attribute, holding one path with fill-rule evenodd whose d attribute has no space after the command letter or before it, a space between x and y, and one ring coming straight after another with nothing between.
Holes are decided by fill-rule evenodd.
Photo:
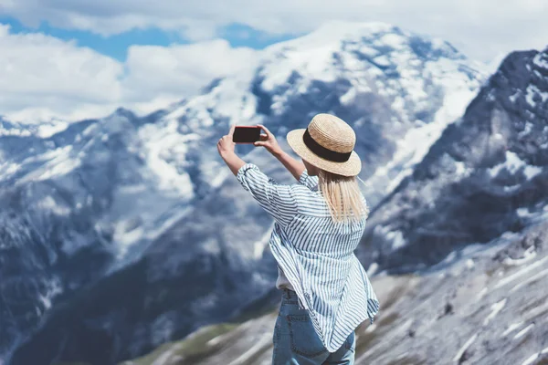
<instances>
[{"instance_id":1,"label":"dark, snow-patched mountain ridge rising at the right edge","mask_svg":"<svg viewBox=\"0 0 548 365\"><path fill-rule=\"evenodd\" d=\"M514 52L377 206L361 258L400 272L546 219L548 49Z\"/></svg>"}]
</instances>

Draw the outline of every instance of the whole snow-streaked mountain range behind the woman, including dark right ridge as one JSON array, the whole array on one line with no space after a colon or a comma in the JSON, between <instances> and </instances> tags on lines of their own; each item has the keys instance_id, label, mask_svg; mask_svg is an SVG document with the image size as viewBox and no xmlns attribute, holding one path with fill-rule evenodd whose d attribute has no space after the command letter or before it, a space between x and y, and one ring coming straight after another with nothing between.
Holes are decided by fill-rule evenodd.
<instances>
[{"instance_id":1,"label":"whole snow-streaked mountain range behind the woman, including dark right ridge","mask_svg":"<svg viewBox=\"0 0 548 365\"><path fill-rule=\"evenodd\" d=\"M451 257L469 263L467 247L490 255L483 247L495 242L527 250L538 267L544 245L525 237L542 236L531 227L546 218L547 99L546 51L514 52L489 75L437 38L330 23L144 117L120 109L34 129L0 120L0 362L114 364L276 305L273 222L216 151L233 124L266 125L285 151L287 131L315 113L351 124L374 208L356 255L378 286L420 272L414 283L436 303L441 284L430 272L450 272ZM237 151L295 183L267 151ZM533 244L520 248L516 235ZM380 321L391 300L406 310L394 291L379 292ZM442 349L432 350L437 359Z\"/></svg>"}]
</instances>

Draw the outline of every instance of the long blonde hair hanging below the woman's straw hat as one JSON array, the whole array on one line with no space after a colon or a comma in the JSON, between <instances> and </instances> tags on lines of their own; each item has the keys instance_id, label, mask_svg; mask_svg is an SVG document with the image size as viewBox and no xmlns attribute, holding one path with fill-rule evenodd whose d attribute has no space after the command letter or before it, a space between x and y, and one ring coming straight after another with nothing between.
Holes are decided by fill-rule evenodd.
<instances>
[{"instance_id":1,"label":"long blonde hair hanging below the woman's straw hat","mask_svg":"<svg viewBox=\"0 0 548 365\"><path fill-rule=\"evenodd\" d=\"M343 176L318 169L319 188L335 223L360 221L369 216L369 206L355 176Z\"/></svg>"}]
</instances>

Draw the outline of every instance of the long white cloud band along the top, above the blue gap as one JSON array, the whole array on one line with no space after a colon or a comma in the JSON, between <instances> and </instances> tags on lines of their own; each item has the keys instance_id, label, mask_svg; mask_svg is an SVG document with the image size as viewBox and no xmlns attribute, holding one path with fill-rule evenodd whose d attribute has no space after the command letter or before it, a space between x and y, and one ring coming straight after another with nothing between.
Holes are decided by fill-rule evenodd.
<instances>
[{"instance_id":1,"label":"long white cloud band along the top, above the blue gap","mask_svg":"<svg viewBox=\"0 0 548 365\"><path fill-rule=\"evenodd\" d=\"M543 48L548 34L545 0L0 0L0 13L30 26L47 20L103 35L155 26L200 40L234 23L279 35L309 32L333 19L383 21L441 36L482 61L514 49Z\"/></svg>"}]
</instances>

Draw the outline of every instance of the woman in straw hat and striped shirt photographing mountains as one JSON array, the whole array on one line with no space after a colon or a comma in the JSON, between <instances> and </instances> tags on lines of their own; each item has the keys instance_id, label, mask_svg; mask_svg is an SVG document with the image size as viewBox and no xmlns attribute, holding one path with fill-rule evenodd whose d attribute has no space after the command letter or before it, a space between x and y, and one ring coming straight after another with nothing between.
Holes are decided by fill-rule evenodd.
<instances>
[{"instance_id":1,"label":"woman in straw hat and striped shirt photographing mountains","mask_svg":"<svg viewBox=\"0 0 548 365\"><path fill-rule=\"evenodd\" d=\"M217 144L230 170L275 220L269 239L282 290L273 335L272 363L353 364L354 329L379 302L353 254L369 213L356 176L362 163L353 151L355 133L330 114L316 115L307 129L291 130L287 141L302 162L282 151L274 135L264 146L299 183L278 184L258 166L237 157L234 126Z\"/></svg>"}]
</instances>

